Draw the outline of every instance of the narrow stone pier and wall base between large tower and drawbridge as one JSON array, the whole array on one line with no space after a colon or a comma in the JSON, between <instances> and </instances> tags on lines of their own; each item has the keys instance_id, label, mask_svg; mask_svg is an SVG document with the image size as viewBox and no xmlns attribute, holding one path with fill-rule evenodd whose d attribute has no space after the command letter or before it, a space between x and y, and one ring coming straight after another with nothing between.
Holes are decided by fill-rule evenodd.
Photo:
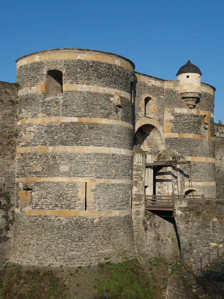
<instances>
[{"instance_id":1,"label":"narrow stone pier and wall base between large tower and drawbridge","mask_svg":"<svg viewBox=\"0 0 224 299\"><path fill-rule=\"evenodd\" d=\"M144 159L144 152L135 148L132 218L136 257L141 261L152 257L170 260L179 255L175 225L144 208Z\"/></svg>"}]
</instances>

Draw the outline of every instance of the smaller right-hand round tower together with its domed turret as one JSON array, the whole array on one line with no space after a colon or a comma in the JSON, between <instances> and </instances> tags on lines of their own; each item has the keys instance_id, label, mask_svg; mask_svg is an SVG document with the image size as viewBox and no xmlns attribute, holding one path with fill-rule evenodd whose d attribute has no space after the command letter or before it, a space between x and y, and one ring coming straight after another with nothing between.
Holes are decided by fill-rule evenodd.
<instances>
[{"instance_id":1,"label":"smaller right-hand round tower together with its domed turret","mask_svg":"<svg viewBox=\"0 0 224 299\"><path fill-rule=\"evenodd\" d=\"M185 191L216 196L215 180L215 88L201 83L201 70L188 60L177 72L178 90L183 102L170 115L172 149L191 161L190 184Z\"/></svg>"}]
</instances>

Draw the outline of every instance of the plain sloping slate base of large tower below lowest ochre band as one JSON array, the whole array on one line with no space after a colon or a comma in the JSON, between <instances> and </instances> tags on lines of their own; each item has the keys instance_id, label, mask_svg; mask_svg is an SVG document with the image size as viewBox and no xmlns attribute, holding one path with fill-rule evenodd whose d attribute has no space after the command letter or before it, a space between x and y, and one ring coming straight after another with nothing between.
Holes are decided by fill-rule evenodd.
<instances>
[{"instance_id":1,"label":"plain sloping slate base of large tower below lowest ochre band","mask_svg":"<svg viewBox=\"0 0 224 299\"><path fill-rule=\"evenodd\" d=\"M11 261L16 263L88 266L134 257L130 216L96 219L17 214L14 234L13 246L19 251L14 251ZM32 239L28 241L27 236Z\"/></svg>"}]
</instances>

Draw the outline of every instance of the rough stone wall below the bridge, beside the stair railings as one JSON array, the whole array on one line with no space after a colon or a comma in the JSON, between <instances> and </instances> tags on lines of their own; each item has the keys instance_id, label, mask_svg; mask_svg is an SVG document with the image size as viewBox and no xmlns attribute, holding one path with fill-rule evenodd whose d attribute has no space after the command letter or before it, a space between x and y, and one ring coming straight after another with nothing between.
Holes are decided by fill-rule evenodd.
<instances>
[{"instance_id":1,"label":"rough stone wall below the bridge, beside the stair railings","mask_svg":"<svg viewBox=\"0 0 224 299\"><path fill-rule=\"evenodd\" d=\"M175 220L181 252L191 249L191 259L196 267L200 267L200 258L224 238L224 201L180 200L176 202ZM220 250L223 251L222 246ZM216 257L215 250L211 259ZM208 263L207 257L203 266Z\"/></svg>"}]
</instances>

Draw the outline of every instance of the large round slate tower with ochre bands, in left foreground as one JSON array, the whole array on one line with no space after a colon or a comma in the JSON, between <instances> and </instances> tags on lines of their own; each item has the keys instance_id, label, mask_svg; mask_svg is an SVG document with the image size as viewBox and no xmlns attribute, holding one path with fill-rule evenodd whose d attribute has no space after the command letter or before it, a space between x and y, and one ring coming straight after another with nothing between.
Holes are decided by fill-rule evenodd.
<instances>
[{"instance_id":1,"label":"large round slate tower with ochre bands, in left foreground","mask_svg":"<svg viewBox=\"0 0 224 299\"><path fill-rule=\"evenodd\" d=\"M133 69L121 56L83 49L17 60L12 261L74 266L134 256Z\"/></svg>"}]
</instances>

